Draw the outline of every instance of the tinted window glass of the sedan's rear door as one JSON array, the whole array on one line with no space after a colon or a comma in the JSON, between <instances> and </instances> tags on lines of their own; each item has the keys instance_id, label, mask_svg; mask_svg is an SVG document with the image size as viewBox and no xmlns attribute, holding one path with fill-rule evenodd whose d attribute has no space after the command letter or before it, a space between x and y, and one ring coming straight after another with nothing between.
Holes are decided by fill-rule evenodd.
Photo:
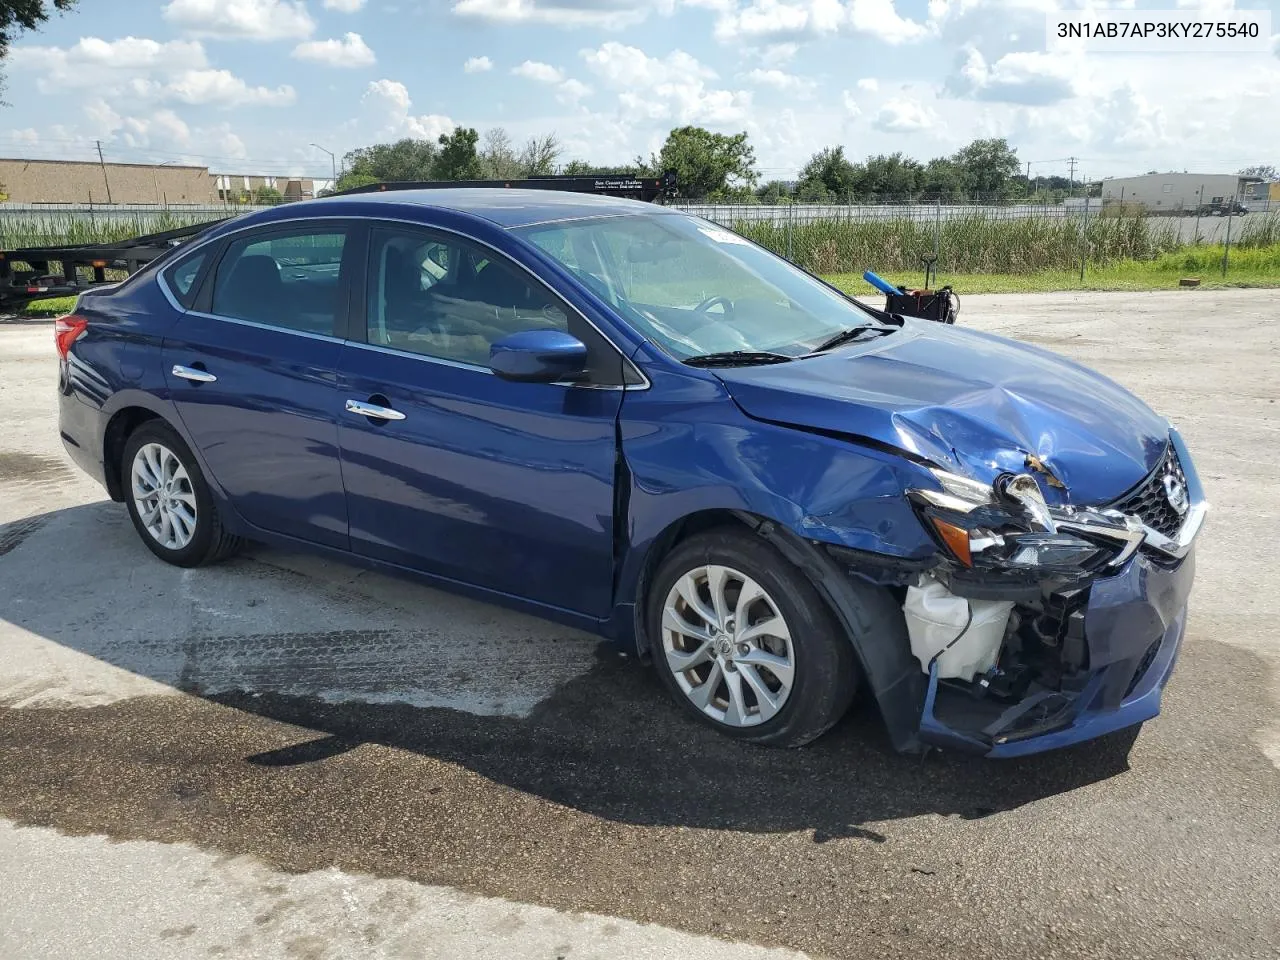
<instances>
[{"instance_id":1,"label":"tinted window glass of the sedan's rear door","mask_svg":"<svg viewBox=\"0 0 1280 960\"><path fill-rule=\"evenodd\" d=\"M346 232L255 234L233 241L218 265L210 310L287 330L334 335Z\"/></svg>"}]
</instances>

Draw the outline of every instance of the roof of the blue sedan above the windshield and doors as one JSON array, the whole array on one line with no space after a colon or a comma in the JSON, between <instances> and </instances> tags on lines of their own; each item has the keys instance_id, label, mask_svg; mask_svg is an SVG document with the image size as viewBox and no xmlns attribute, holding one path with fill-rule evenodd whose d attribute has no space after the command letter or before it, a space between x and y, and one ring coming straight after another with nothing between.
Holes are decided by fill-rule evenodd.
<instances>
[{"instance_id":1,"label":"roof of the blue sedan above the windshield and doors","mask_svg":"<svg viewBox=\"0 0 1280 960\"><path fill-rule=\"evenodd\" d=\"M389 189L325 197L323 204L369 204L435 207L480 216L499 227L527 227L556 220L594 216L660 216L676 211L622 197L598 197L550 189L504 189L502 187L442 187L433 189Z\"/></svg>"}]
</instances>

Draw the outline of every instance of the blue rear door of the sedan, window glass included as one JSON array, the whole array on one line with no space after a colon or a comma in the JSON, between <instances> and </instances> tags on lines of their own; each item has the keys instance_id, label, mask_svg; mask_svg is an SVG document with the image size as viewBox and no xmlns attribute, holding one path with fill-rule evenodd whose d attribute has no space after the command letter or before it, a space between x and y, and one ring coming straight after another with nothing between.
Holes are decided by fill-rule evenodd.
<instances>
[{"instance_id":1,"label":"blue rear door of the sedan, window glass included","mask_svg":"<svg viewBox=\"0 0 1280 960\"><path fill-rule=\"evenodd\" d=\"M362 260L355 238L333 220L234 236L198 294L207 312L184 314L163 355L178 413L237 512L342 548L334 334Z\"/></svg>"}]
</instances>

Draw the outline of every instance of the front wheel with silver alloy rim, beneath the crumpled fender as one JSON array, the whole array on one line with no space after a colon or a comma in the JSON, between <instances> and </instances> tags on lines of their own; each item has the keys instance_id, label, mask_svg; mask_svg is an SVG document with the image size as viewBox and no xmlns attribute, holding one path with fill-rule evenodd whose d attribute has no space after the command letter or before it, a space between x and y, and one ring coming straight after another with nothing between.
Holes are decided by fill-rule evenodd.
<instances>
[{"instance_id":1,"label":"front wheel with silver alloy rim, beneath the crumpled fender","mask_svg":"<svg viewBox=\"0 0 1280 960\"><path fill-rule=\"evenodd\" d=\"M750 532L677 545L654 576L648 623L672 695L727 736L801 746L852 701L849 637L804 573Z\"/></svg>"}]
</instances>

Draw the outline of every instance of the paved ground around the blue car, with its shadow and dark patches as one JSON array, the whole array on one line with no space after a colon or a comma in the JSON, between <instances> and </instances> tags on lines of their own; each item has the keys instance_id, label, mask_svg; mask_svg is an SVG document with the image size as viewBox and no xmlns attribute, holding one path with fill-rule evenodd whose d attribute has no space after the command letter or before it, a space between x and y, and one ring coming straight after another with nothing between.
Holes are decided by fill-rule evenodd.
<instances>
[{"instance_id":1,"label":"paved ground around the blue car, with its shadow and dark patches","mask_svg":"<svg viewBox=\"0 0 1280 960\"><path fill-rule=\"evenodd\" d=\"M1277 317L965 298L1167 413L1213 502L1165 716L1004 764L867 709L737 746L540 621L165 567L61 456L47 324L0 323L0 957L1280 955Z\"/></svg>"}]
</instances>

